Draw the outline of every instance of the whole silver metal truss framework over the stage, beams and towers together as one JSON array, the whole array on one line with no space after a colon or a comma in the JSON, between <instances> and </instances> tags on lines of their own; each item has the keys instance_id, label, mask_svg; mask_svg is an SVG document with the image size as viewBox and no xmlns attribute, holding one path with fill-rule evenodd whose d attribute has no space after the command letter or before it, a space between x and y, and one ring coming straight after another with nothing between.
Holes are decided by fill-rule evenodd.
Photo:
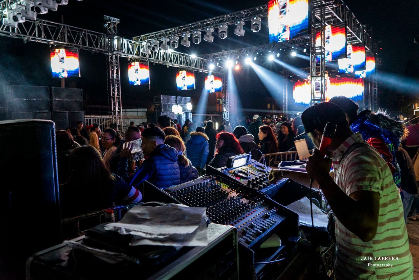
<instances>
[{"instance_id":1,"label":"whole silver metal truss framework over the stage, beams and towers together","mask_svg":"<svg viewBox=\"0 0 419 280\"><path fill-rule=\"evenodd\" d=\"M13 5L22 4L23 0L3 0L0 1L0 11L13 8ZM208 64L211 60L225 59L228 57L239 56L243 54L253 54L258 51L275 51L282 47L310 45L310 73L311 79L315 83L320 84L320 91L316 92L315 83L312 83L311 102L324 101L324 85L325 85L325 60L324 60L324 34L322 36L322 44L316 47L316 30L321 30L326 24L332 25L340 22L347 24L347 42L348 44L365 43L365 47L372 53L376 50L373 46L373 40L370 31L365 25L362 25L354 13L347 7L343 0L312 0L311 1L311 34L302 36L290 41L277 44L265 44L256 47L248 47L243 49L230 50L225 52L217 52L212 54L204 54L201 57L192 58L189 54L176 51L164 51L143 53L141 52L142 43L152 40L160 40L169 38L172 35L179 36L183 33L190 33L195 30L204 31L207 27L217 28L220 24L233 24L235 21L251 21L255 16L260 18L267 17L268 5L261 5L251 9L241 10L235 13L229 13L203 21L190 23L184 26L178 26L172 29L165 29L158 32L136 36L133 39L123 38L117 35L117 23L119 19L104 17L106 33L81 29L75 26L69 26L62 23L45 21L37 19L36 21L26 20L19 23L17 28L11 28L5 25L0 26L0 36L10 38L23 39L27 41L36 41L50 45L63 45L68 47L76 47L78 49L90 50L91 52L101 52L108 56L109 71L109 91L111 92L112 116L117 124L118 130L122 130L122 99L121 87L119 79L119 57L127 57L137 59L144 62L153 62L156 64L168 65L172 67L182 67L189 70L209 73ZM0 20L5 15L0 12ZM323 29L324 30L324 29ZM323 32L324 33L324 32ZM313 60L316 49L320 49L321 60L316 65ZM314 52L313 52L314 51ZM286 71L285 71L286 72ZM227 74L221 73L223 77L222 87L222 106L223 118L229 118L229 98L227 89ZM368 94L368 107L377 108L377 78L372 75L371 93ZM365 94L364 94L365 96ZM284 102L287 104L287 102ZM287 106L286 106L287 107ZM287 109L287 108L285 108Z\"/></svg>"}]
</instances>

